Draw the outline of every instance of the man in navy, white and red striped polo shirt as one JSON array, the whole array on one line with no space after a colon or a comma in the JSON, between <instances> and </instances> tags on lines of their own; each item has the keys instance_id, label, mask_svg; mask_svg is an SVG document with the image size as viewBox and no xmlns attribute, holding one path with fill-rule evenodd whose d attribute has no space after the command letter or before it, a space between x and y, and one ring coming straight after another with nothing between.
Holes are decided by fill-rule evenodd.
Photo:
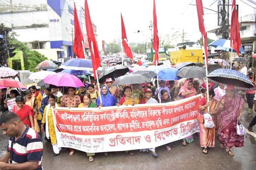
<instances>
[{"instance_id":1,"label":"man in navy, white and red striped polo shirt","mask_svg":"<svg viewBox=\"0 0 256 170\"><path fill-rule=\"evenodd\" d=\"M0 170L43 170L43 143L35 130L24 125L11 111L0 116L0 128L9 136L7 152L0 158Z\"/></svg>"}]
</instances>

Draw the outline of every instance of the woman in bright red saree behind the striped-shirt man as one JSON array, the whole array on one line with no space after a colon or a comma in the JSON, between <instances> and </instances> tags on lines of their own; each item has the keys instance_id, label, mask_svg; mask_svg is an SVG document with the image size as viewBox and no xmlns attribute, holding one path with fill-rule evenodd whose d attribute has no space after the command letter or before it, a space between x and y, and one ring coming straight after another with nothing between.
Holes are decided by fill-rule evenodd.
<instances>
[{"instance_id":1,"label":"woman in bright red saree behind the striped-shirt man","mask_svg":"<svg viewBox=\"0 0 256 170\"><path fill-rule=\"evenodd\" d=\"M12 112L16 113L20 117L20 120L24 125L35 129L33 109L29 105L24 105L22 96L17 96L15 98L15 102L17 105L13 106Z\"/></svg>"}]
</instances>

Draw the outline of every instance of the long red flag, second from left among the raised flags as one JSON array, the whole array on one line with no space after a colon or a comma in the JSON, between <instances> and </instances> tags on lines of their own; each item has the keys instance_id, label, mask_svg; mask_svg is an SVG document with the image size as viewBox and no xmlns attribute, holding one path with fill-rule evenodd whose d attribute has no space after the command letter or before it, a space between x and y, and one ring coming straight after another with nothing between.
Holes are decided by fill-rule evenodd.
<instances>
[{"instance_id":1,"label":"long red flag, second from left among the raised flags","mask_svg":"<svg viewBox=\"0 0 256 170\"><path fill-rule=\"evenodd\" d=\"M93 32L93 24L90 19L90 11L89 11L87 0L85 0L84 11L85 11L85 26L87 31L88 43L89 43L90 53L91 53L92 62L93 62L93 74L94 74L94 79L96 79L96 70L100 66L100 56L99 56L99 50L98 50L96 38Z\"/></svg>"}]
</instances>

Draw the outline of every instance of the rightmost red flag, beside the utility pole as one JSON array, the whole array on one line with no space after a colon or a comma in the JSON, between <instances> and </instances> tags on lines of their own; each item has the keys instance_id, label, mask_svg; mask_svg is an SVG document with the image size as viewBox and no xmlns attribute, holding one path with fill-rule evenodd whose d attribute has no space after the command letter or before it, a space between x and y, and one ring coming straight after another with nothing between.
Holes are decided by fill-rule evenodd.
<instances>
[{"instance_id":1,"label":"rightmost red flag, beside the utility pole","mask_svg":"<svg viewBox=\"0 0 256 170\"><path fill-rule=\"evenodd\" d=\"M236 0L232 3L232 15L231 15L231 26L230 26L230 46L236 50L236 54L239 56L239 49L241 47L240 28L238 21L238 14L236 11Z\"/></svg>"}]
</instances>

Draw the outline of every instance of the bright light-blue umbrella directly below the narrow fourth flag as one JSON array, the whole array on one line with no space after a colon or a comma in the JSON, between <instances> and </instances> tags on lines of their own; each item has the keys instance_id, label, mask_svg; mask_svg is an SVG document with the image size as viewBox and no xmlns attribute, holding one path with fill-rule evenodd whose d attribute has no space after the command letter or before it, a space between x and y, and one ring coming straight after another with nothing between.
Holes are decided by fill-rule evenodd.
<instances>
[{"instance_id":1,"label":"bright light-blue umbrella directly below the narrow fourth flag","mask_svg":"<svg viewBox=\"0 0 256 170\"><path fill-rule=\"evenodd\" d=\"M162 80L177 80L177 73L178 70L176 68L171 68L171 67L167 67L167 68L163 68L158 72L158 79L162 79Z\"/></svg>"}]
</instances>

